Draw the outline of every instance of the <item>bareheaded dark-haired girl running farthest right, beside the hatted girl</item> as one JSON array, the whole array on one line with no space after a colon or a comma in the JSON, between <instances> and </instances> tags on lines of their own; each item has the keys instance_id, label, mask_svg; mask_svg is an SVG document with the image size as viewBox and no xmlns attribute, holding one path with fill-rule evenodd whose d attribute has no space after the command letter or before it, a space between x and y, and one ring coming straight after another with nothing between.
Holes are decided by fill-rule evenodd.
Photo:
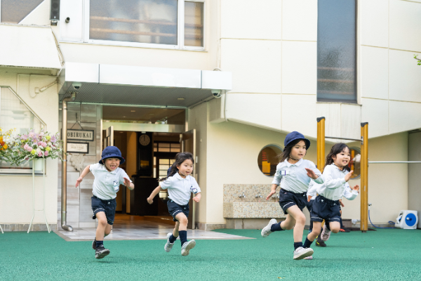
<instances>
[{"instance_id":1,"label":"bareheaded dark-haired girl running farthest right, beside the hatted girl","mask_svg":"<svg viewBox=\"0 0 421 281\"><path fill-rule=\"evenodd\" d=\"M359 190L358 185L350 188L347 183L354 172L349 171L349 159L350 150L348 145L336 143L326 157L326 165L323 170L324 183L310 185L307 192L308 201L316 196L316 193L319 195L314 200L310 211L313 229L307 235L305 247L310 247L314 239L320 235L323 220L325 225L319 238L321 241L327 241L331 231L333 233L340 231L340 200L342 196L345 196L348 200L354 200ZM349 192L349 189L352 191Z\"/></svg>"}]
</instances>

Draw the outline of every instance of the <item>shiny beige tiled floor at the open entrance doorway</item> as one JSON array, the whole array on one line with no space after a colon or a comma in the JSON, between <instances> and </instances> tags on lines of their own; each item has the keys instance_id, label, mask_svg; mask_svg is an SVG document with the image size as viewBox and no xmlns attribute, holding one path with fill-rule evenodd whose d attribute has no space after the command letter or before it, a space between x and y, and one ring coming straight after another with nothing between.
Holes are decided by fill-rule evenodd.
<instances>
[{"instance_id":1,"label":"shiny beige tiled floor at the open entrance doorway","mask_svg":"<svg viewBox=\"0 0 421 281\"><path fill-rule=\"evenodd\" d=\"M93 240L96 228L76 228L72 232L65 230L55 231L67 241ZM157 223L144 220L118 220L114 221L112 233L105 240L166 240L167 233L173 231L173 226L166 223ZM215 239L215 240L241 240L254 239L226 233L217 233L205 230L187 230L189 240Z\"/></svg>"}]
</instances>

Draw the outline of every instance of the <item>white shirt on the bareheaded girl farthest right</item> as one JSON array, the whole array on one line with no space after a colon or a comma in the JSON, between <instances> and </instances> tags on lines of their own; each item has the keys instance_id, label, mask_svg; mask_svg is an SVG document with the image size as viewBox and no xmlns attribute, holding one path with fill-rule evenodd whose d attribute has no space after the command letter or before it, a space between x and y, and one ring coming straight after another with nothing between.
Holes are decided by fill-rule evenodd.
<instances>
[{"instance_id":1,"label":"white shirt on the bareheaded girl farthest right","mask_svg":"<svg viewBox=\"0 0 421 281\"><path fill-rule=\"evenodd\" d=\"M319 184L314 181L310 183L307 196L315 197L316 193L329 199L329 200L340 200L343 197L347 200L354 200L358 196L356 190L352 190L349 184L345 181L345 176L348 171L343 171L331 164L326 166L323 171L323 183Z\"/></svg>"}]
</instances>

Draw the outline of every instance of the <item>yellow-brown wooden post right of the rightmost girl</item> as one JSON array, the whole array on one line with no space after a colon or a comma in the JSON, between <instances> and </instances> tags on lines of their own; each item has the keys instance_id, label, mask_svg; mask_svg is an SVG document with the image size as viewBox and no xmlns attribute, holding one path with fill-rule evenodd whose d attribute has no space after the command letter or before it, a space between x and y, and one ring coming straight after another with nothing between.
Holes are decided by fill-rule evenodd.
<instances>
[{"instance_id":1,"label":"yellow-brown wooden post right of the rightmost girl","mask_svg":"<svg viewBox=\"0 0 421 281\"><path fill-rule=\"evenodd\" d=\"M361 123L361 218L360 230L368 230L368 123Z\"/></svg>"}]
</instances>

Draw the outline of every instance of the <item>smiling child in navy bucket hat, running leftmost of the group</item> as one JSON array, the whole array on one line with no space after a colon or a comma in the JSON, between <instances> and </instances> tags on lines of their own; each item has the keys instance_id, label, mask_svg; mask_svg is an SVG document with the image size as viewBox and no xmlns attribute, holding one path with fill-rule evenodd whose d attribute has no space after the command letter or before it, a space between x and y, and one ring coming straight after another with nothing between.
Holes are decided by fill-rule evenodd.
<instances>
[{"instance_id":1,"label":"smiling child in navy bucket hat, running leftmost of the group","mask_svg":"<svg viewBox=\"0 0 421 281\"><path fill-rule=\"evenodd\" d=\"M92 242L95 259L102 259L109 254L109 249L104 247L104 237L112 230L116 213L116 192L119 191L119 186L126 185L130 190L135 188L126 171L119 168L124 162L119 148L107 146L102 150L100 162L86 166L76 181L77 188L90 171L95 177L91 197L93 219L98 218L98 228Z\"/></svg>"}]
</instances>

